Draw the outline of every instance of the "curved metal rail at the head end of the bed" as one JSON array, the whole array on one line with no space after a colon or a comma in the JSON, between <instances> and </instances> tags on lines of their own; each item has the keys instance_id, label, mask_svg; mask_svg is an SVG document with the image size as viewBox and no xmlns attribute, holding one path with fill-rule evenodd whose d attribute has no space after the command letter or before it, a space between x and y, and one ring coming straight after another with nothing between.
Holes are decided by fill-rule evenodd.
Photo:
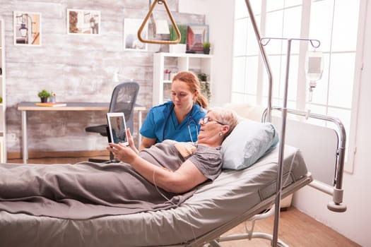
<instances>
[{"instance_id":1,"label":"curved metal rail at the head end of the bed","mask_svg":"<svg viewBox=\"0 0 371 247\"><path fill-rule=\"evenodd\" d=\"M271 107L271 110L277 110L282 112L282 107ZM267 121L267 112L266 109L262 116L262 121ZM303 112L295 109L287 109L289 114L294 114L298 116L305 116L306 118L310 117L313 119L320 119L324 121L330 121L336 125L336 135L338 138L338 145L336 147L336 164L335 164L335 173L333 180L333 187L328 186L326 183L320 181L312 181L309 185L313 188L316 188L319 191L332 195L332 202L327 204L327 208L334 212L345 212L346 205L343 205L343 171L344 171L344 157L346 151L346 131L341 123L340 119L333 116L326 116L322 114L314 114L310 112Z\"/></svg>"}]
</instances>

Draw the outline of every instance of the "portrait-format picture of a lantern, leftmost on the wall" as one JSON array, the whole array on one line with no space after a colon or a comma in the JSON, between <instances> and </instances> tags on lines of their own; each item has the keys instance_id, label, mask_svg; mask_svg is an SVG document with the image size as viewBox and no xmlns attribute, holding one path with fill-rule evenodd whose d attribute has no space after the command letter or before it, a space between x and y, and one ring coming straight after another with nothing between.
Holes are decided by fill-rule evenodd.
<instances>
[{"instance_id":1,"label":"portrait-format picture of a lantern, leftmost on the wall","mask_svg":"<svg viewBox=\"0 0 371 247\"><path fill-rule=\"evenodd\" d=\"M14 44L41 45L41 13L13 12Z\"/></svg>"}]
</instances>

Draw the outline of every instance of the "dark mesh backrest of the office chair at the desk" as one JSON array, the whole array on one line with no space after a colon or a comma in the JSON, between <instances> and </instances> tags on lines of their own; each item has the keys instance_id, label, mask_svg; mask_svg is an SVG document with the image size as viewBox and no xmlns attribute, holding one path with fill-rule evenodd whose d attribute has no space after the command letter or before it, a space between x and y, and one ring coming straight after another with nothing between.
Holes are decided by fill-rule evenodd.
<instances>
[{"instance_id":1,"label":"dark mesh backrest of the office chair at the desk","mask_svg":"<svg viewBox=\"0 0 371 247\"><path fill-rule=\"evenodd\" d=\"M139 84L136 82L120 83L113 92L109 112L124 112L126 126L133 129L133 112Z\"/></svg>"}]
</instances>

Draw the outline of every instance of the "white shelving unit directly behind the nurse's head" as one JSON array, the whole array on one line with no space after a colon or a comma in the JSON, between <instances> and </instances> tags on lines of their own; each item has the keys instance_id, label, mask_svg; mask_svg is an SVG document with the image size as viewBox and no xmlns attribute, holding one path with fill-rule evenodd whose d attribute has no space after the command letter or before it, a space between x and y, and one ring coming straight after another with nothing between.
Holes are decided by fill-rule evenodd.
<instances>
[{"instance_id":1,"label":"white shelving unit directly behind the nurse's head","mask_svg":"<svg viewBox=\"0 0 371 247\"><path fill-rule=\"evenodd\" d=\"M187 53L155 53L153 54L153 105L170 100L171 78L164 78L164 71L171 73L193 71L206 73L212 85L212 56Z\"/></svg>"}]
</instances>

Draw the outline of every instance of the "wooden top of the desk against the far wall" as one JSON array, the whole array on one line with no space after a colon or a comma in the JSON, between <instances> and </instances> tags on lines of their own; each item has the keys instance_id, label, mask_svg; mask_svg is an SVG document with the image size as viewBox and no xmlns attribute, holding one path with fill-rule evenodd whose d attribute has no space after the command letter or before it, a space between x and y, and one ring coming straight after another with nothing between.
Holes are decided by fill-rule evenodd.
<instances>
[{"instance_id":1,"label":"wooden top of the desk against the far wall","mask_svg":"<svg viewBox=\"0 0 371 247\"><path fill-rule=\"evenodd\" d=\"M39 107L37 102L20 102L18 111L108 111L110 108L109 102L61 102L66 103L64 107ZM146 107L138 104L134 107L134 111L143 111Z\"/></svg>"}]
</instances>

